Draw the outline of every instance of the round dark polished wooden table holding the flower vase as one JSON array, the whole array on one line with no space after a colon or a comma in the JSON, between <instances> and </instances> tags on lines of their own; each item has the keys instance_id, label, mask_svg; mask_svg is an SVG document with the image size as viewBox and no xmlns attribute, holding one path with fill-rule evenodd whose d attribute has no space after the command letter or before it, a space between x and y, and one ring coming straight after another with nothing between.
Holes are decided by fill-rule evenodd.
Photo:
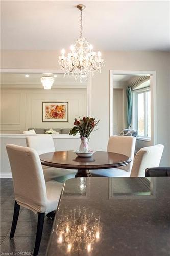
<instances>
[{"instance_id":1,"label":"round dark polished wooden table holding the flower vase","mask_svg":"<svg viewBox=\"0 0 170 256\"><path fill-rule=\"evenodd\" d=\"M90 170L118 168L131 162L131 158L118 153L96 151L91 157L79 157L71 150L45 153L40 160L42 165L76 169L75 177L90 177Z\"/></svg>"}]
</instances>

